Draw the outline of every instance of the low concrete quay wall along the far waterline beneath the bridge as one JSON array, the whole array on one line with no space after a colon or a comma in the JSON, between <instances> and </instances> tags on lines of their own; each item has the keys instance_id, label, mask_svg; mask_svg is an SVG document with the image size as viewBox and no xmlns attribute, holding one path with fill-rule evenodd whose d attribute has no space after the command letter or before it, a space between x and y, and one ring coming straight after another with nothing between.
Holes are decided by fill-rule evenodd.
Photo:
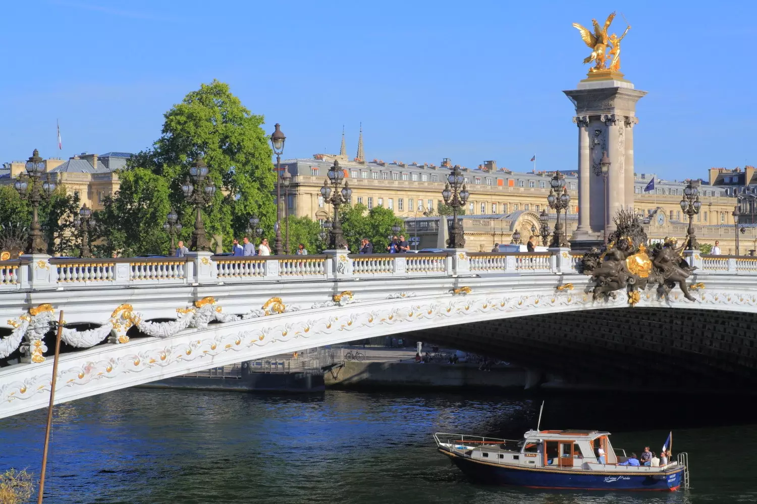
<instances>
[{"instance_id":1,"label":"low concrete quay wall along the far waterline beneath the bridge","mask_svg":"<svg viewBox=\"0 0 757 504\"><path fill-rule=\"evenodd\" d=\"M493 366L481 371L474 364L410 362L345 362L326 371L327 388L529 388L537 377L526 369ZM534 384L535 385L535 384Z\"/></svg>"}]
</instances>

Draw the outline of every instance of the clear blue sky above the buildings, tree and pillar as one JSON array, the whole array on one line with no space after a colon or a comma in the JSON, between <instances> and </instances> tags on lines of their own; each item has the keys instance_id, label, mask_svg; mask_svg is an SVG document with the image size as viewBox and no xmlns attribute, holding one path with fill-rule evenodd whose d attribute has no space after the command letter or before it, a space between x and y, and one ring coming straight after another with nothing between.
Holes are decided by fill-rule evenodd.
<instances>
[{"instance_id":1,"label":"clear blue sky above the buildings, tree and pillar","mask_svg":"<svg viewBox=\"0 0 757 504\"><path fill-rule=\"evenodd\" d=\"M640 100L636 172L705 177L757 162L757 2L8 2L0 57L0 161L136 152L201 82L231 85L280 122L285 157L369 159L517 171L576 165L578 30L613 9L632 28L621 71ZM625 28L618 14L612 29ZM55 121L61 122L58 150Z\"/></svg>"}]
</instances>

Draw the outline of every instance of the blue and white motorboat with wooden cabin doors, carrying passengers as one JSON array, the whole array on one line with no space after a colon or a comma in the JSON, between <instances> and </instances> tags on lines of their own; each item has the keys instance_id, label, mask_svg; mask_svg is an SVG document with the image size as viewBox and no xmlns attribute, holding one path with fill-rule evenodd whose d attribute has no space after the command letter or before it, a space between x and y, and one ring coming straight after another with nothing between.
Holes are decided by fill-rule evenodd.
<instances>
[{"instance_id":1,"label":"blue and white motorboat with wooden cabin doors, carrying passengers","mask_svg":"<svg viewBox=\"0 0 757 504\"><path fill-rule=\"evenodd\" d=\"M678 490L688 488L688 459L678 453L665 465L622 465L603 431L527 431L521 441L466 434L434 434L436 445L475 481L570 490ZM599 448L606 456L600 459Z\"/></svg>"}]
</instances>

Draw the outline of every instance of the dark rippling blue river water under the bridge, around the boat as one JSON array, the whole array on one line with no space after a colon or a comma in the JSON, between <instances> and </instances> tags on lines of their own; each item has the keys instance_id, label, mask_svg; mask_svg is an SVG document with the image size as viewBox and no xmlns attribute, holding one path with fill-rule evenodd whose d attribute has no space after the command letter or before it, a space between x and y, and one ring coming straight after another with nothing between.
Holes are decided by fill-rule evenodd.
<instances>
[{"instance_id":1,"label":"dark rippling blue river water under the bridge, around the boat","mask_svg":"<svg viewBox=\"0 0 757 504\"><path fill-rule=\"evenodd\" d=\"M473 484L435 431L520 438L541 397L326 391L308 395L132 388L61 404L45 502L757 502L757 425L722 397L553 394L542 428L600 428L615 447L690 456L676 493ZM724 407L724 405L733 405ZM46 410L0 420L0 469L39 475Z\"/></svg>"}]
</instances>

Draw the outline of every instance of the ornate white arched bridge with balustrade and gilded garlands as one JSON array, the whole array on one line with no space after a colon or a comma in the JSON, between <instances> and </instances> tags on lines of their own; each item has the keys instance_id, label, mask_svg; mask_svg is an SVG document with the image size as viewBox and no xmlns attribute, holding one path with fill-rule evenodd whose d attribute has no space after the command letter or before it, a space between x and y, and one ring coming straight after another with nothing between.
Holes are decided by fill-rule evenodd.
<instances>
[{"instance_id":1,"label":"ornate white arched bridge with balustrade and gilded garlands","mask_svg":"<svg viewBox=\"0 0 757 504\"><path fill-rule=\"evenodd\" d=\"M757 258L701 256L660 298L594 301L581 255L544 253L0 262L0 418L201 369L373 336L499 355L594 382L719 388L755 381ZM696 385L699 386L699 385Z\"/></svg>"}]
</instances>

